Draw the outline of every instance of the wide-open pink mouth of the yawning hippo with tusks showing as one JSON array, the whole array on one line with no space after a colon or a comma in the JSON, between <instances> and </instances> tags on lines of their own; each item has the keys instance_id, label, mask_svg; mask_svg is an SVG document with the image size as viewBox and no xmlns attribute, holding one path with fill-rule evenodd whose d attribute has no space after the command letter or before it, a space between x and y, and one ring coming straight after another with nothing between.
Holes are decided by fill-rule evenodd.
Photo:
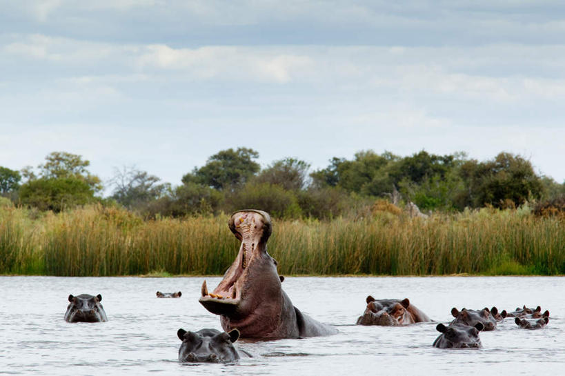
<instances>
[{"instance_id":1,"label":"wide-open pink mouth of the yawning hippo with tusks showing","mask_svg":"<svg viewBox=\"0 0 565 376\"><path fill-rule=\"evenodd\" d=\"M241 241L239 253L212 293L208 292L206 281L203 282L199 301L211 313L236 316L241 313L241 304L246 297L252 270L257 269L257 266L261 269L263 264L272 264L274 261L266 252L271 221L264 211L241 210L230 217L228 226Z\"/></svg>"}]
</instances>

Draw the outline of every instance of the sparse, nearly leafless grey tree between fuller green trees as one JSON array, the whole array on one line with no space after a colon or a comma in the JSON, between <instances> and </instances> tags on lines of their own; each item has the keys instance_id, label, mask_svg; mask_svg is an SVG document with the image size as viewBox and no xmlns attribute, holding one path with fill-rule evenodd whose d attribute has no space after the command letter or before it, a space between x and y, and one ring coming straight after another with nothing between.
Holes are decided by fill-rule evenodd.
<instances>
[{"instance_id":1,"label":"sparse, nearly leafless grey tree between fuller green trees","mask_svg":"<svg viewBox=\"0 0 565 376\"><path fill-rule=\"evenodd\" d=\"M115 168L114 177L110 180L115 188L112 198L130 210L141 210L150 201L162 197L169 184L157 184L159 179L133 167Z\"/></svg>"}]
</instances>

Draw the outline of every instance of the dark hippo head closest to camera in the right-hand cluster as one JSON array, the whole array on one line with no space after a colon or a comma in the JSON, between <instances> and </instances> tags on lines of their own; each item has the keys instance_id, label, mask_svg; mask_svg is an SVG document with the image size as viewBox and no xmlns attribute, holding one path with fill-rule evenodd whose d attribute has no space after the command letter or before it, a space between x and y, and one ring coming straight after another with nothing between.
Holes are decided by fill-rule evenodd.
<instances>
[{"instance_id":1,"label":"dark hippo head closest to camera in the right-hand cluster","mask_svg":"<svg viewBox=\"0 0 565 376\"><path fill-rule=\"evenodd\" d=\"M466 324L437 324L435 329L442 333L433 342L434 347L439 348L480 348L482 347L479 332L483 330L482 323L477 322L474 326Z\"/></svg>"}]
</instances>

